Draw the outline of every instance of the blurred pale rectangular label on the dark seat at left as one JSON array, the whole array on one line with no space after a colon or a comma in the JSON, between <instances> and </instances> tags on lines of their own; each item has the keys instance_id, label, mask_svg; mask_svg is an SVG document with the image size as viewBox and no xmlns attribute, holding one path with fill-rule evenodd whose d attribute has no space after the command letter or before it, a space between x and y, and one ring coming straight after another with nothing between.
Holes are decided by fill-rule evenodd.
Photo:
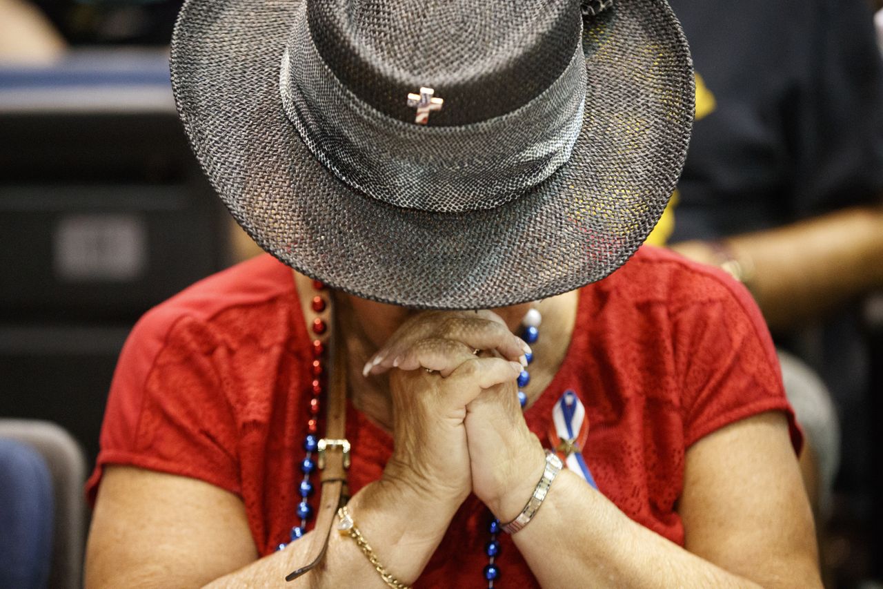
<instances>
[{"instance_id":1,"label":"blurred pale rectangular label on the dark seat at left","mask_svg":"<svg viewBox=\"0 0 883 589\"><path fill-rule=\"evenodd\" d=\"M55 233L55 270L65 280L132 280L147 265L147 229L133 215L72 215Z\"/></svg>"}]
</instances>

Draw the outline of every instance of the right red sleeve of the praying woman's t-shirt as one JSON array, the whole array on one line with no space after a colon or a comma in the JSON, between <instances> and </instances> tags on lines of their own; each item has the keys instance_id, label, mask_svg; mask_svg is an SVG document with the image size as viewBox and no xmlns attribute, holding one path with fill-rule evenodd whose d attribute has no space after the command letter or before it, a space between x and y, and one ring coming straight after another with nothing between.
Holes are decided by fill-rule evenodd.
<instances>
[{"instance_id":1,"label":"right red sleeve of the praying woman's t-shirt","mask_svg":"<svg viewBox=\"0 0 883 589\"><path fill-rule=\"evenodd\" d=\"M785 397L773 341L751 295L713 269L696 285L673 316L686 446L740 419L782 411L799 452L802 435Z\"/></svg>"}]
</instances>

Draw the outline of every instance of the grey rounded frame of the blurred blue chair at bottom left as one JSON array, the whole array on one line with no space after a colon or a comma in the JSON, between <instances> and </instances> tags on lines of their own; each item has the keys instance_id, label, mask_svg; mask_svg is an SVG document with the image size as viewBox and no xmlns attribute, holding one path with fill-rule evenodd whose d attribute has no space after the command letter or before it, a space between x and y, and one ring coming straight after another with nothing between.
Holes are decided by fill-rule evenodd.
<instances>
[{"instance_id":1,"label":"grey rounded frame of the blurred blue chair at bottom left","mask_svg":"<svg viewBox=\"0 0 883 589\"><path fill-rule=\"evenodd\" d=\"M0 419L0 438L34 447L49 466L55 495L55 523L48 586L79 589L87 532L87 505L83 494L86 461L82 449L70 433L48 421Z\"/></svg>"}]
</instances>

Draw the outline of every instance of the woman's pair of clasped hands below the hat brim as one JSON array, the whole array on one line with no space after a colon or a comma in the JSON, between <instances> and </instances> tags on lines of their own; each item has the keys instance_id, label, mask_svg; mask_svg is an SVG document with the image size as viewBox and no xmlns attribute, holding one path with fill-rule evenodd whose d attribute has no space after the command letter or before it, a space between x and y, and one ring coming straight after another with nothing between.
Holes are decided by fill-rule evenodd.
<instances>
[{"instance_id":1,"label":"woman's pair of clasped hands below the hat brim","mask_svg":"<svg viewBox=\"0 0 883 589\"><path fill-rule=\"evenodd\" d=\"M544 467L517 399L528 351L492 311L427 311L366 365L389 371L395 450L384 478L459 505L472 491L502 521L517 516Z\"/></svg>"}]
</instances>

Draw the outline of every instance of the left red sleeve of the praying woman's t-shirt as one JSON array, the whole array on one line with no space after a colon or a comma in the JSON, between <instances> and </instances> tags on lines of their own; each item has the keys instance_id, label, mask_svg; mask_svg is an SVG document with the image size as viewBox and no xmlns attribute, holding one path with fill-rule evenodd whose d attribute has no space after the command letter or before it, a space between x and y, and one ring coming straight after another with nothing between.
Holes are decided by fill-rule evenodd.
<instances>
[{"instance_id":1,"label":"left red sleeve of the praying woman's t-shirt","mask_svg":"<svg viewBox=\"0 0 883 589\"><path fill-rule=\"evenodd\" d=\"M107 464L200 478L239 493L236 425L208 325L162 306L132 330L117 362L87 482L94 502Z\"/></svg>"}]
</instances>

